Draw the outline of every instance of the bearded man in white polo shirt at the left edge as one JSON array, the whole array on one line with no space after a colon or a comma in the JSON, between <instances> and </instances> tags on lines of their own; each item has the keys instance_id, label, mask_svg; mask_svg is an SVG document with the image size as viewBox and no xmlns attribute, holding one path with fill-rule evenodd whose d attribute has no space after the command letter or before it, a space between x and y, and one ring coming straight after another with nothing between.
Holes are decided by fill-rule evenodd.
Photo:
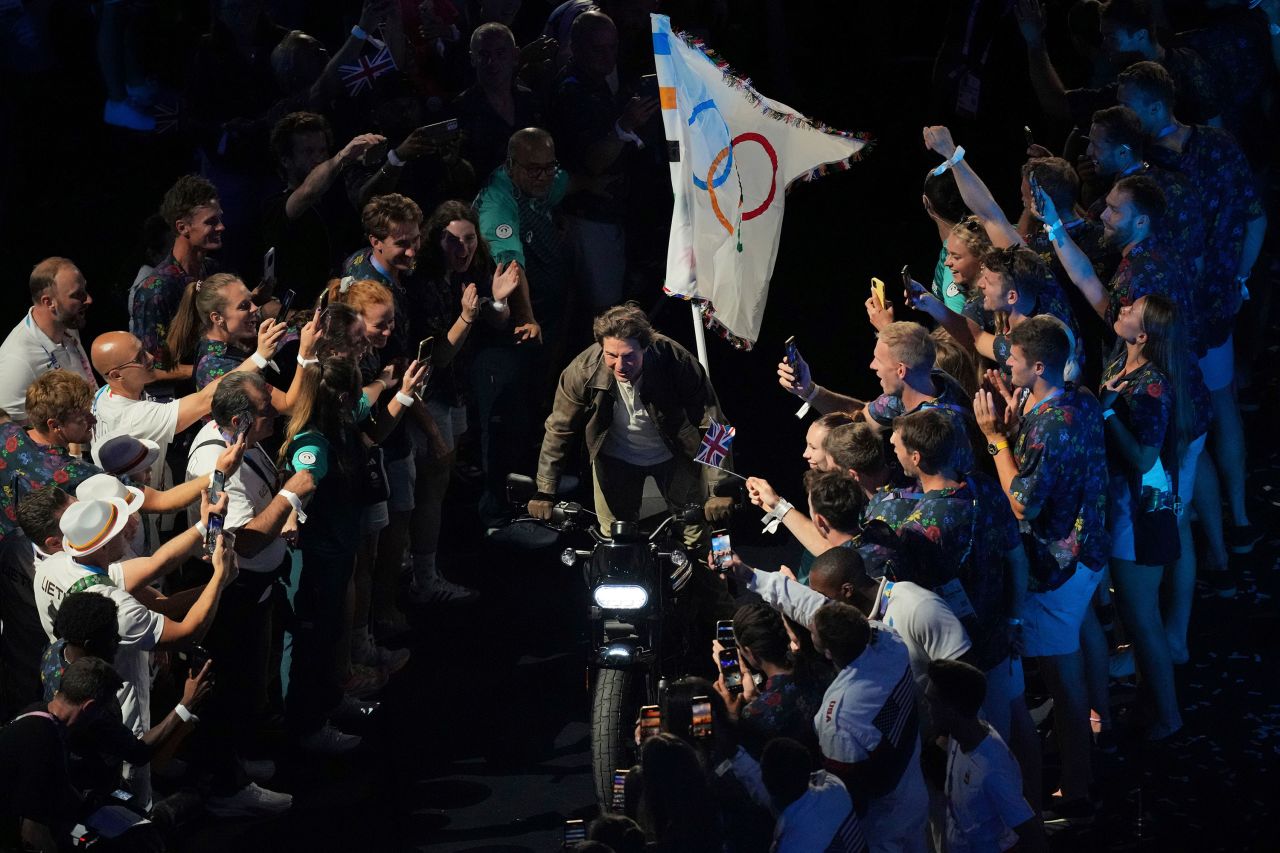
<instances>
[{"instance_id":1,"label":"bearded man in white polo shirt at the left edge","mask_svg":"<svg viewBox=\"0 0 1280 853\"><path fill-rule=\"evenodd\" d=\"M93 297L84 275L65 257L46 257L31 270L31 310L0 346L0 409L27 419L27 388L49 370L69 370L97 388L79 330Z\"/></svg>"}]
</instances>

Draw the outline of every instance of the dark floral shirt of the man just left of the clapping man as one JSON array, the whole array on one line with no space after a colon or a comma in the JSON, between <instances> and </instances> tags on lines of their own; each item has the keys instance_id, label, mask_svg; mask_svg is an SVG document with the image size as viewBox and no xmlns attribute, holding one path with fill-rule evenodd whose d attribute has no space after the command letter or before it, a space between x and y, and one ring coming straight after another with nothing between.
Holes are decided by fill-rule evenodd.
<instances>
[{"instance_id":1,"label":"dark floral shirt of the man just left of the clapping man","mask_svg":"<svg viewBox=\"0 0 1280 853\"><path fill-rule=\"evenodd\" d=\"M954 489L925 492L897 529L899 537L923 544L932 558L931 578L915 580L947 598L973 642L974 666L989 670L1009 654L1009 571L1006 555L1020 547L1018 520L1000 483L970 474ZM938 590L957 579L973 616L961 616L951 598ZM937 583L931 583L937 581Z\"/></svg>"}]
</instances>

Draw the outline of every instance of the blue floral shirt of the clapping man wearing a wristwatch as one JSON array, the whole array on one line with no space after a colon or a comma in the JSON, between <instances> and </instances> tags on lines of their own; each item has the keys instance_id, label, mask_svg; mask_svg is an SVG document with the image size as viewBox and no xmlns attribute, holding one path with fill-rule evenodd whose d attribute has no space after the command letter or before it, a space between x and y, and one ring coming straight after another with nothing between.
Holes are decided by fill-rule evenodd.
<instances>
[{"instance_id":1,"label":"blue floral shirt of the clapping man wearing a wristwatch","mask_svg":"<svg viewBox=\"0 0 1280 853\"><path fill-rule=\"evenodd\" d=\"M1018 475L1009 493L1033 517L1020 523L1030 562L1030 592L1051 592L1075 574L1076 564L1101 570L1106 532L1107 460L1102 410L1088 391L1068 384L1027 407L1012 435Z\"/></svg>"}]
</instances>

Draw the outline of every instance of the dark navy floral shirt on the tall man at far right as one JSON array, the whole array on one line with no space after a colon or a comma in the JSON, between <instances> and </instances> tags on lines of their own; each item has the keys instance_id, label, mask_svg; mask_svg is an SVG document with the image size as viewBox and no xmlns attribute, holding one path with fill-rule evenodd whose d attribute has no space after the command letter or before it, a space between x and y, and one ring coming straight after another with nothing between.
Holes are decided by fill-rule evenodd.
<instances>
[{"instance_id":1,"label":"dark navy floral shirt on the tall man at far right","mask_svg":"<svg viewBox=\"0 0 1280 853\"><path fill-rule=\"evenodd\" d=\"M1226 131L1193 127L1181 152L1152 145L1148 156L1161 168L1181 173L1196 187L1204 220L1204 274L1194 302L1199 318L1197 341L1204 348L1222 345L1240 310L1239 272L1244 233L1263 215L1253 172L1244 152Z\"/></svg>"}]
</instances>

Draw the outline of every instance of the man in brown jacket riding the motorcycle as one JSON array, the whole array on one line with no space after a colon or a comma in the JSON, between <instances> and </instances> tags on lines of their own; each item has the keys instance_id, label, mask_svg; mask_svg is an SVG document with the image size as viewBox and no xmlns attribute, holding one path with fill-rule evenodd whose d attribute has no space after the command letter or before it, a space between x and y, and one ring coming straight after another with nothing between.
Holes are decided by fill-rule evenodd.
<instances>
[{"instance_id":1,"label":"man in brown jacket riding the motorcycle","mask_svg":"<svg viewBox=\"0 0 1280 853\"><path fill-rule=\"evenodd\" d=\"M604 535L616 519L639 520L649 476L669 507L703 503L708 521L727 521L733 500L716 494L730 475L694 461L703 430L712 420L724 421L698 359L654 332L635 304L608 309L595 318L593 332L595 343L561 373L529 514L552 517L570 444L582 435ZM685 544L705 543L705 525L686 525Z\"/></svg>"}]
</instances>

